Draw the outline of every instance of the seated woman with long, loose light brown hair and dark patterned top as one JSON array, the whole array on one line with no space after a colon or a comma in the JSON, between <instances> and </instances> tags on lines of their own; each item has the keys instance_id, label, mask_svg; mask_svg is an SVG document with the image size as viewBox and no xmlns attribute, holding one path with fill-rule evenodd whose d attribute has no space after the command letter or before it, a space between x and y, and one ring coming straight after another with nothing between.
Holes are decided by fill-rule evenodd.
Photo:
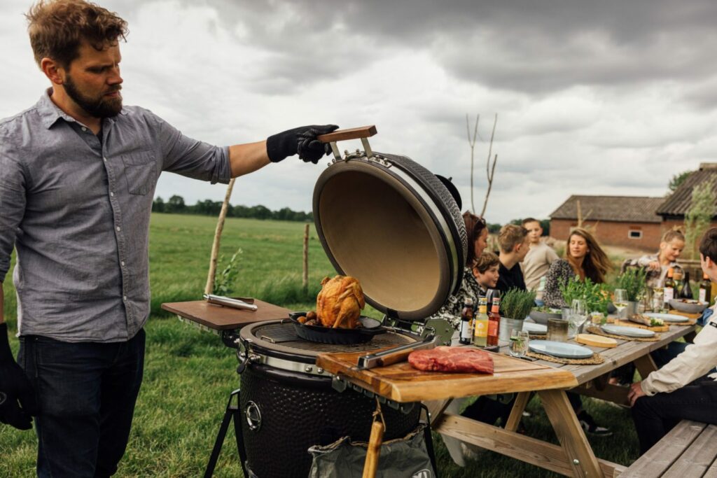
<instances>
[{"instance_id":1,"label":"seated woman with long, loose light brown hair and dark patterned top","mask_svg":"<svg viewBox=\"0 0 717 478\"><path fill-rule=\"evenodd\" d=\"M600 248L595 238L585 229L573 229L568 236L565 259L559 259L551 264L545 279L545 293L543 301L548 307L569 307L560 292L560 286L566 284L573 277L581 281L589 278L592 282L602 284L605 274L612 268L607 254ZM592 416L582 409L582 401L578 394L568 393L575 413L583 429L589 433L600 436L612 434L610 429L598 426Z\"/></svg>"}]
</instances>

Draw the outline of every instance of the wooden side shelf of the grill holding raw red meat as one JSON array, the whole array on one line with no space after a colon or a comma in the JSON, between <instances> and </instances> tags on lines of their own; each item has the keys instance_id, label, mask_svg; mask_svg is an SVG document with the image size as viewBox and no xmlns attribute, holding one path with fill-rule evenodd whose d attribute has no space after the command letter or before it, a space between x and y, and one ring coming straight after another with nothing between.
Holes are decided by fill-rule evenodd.
<instances>
[{"instance_id":1,"label":"wooden side shelf of the grill holding raw red meat","mask_svg":"<svg viewBox=\"0 0 717 478\"><path fill-rule=\"evenodd\" d=\"M380 396L402 403L572 388L578 384L569 371L499 353L487 353L493 358L493 375L425 372L416 370L408 362L361 370L356 363L365 353L320 353L316 365Z\"/></svg>"}]
</instances>

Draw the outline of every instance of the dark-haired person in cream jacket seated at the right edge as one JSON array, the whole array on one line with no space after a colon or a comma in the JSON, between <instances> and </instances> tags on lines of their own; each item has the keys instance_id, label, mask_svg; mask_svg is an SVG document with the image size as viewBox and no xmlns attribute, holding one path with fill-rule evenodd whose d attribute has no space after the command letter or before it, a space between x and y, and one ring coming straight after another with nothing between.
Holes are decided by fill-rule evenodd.
<instances>
[{"instance_id":1,"label":"dark-haired person in cream jacket seated at the right edge","mask_svg":"<svg viewBox=\"0 0 717 478\"><path fill-rule=\"evenodd\" d=\"M700 242L700 264L717 282L717 227ZM712 307L715 310L717 304ZM717 315L711 315L694 343L645 380L633 383L628 398L632 406L640 454L660 441L680 420L717 424Z\"/></svg>"}]
</instances>

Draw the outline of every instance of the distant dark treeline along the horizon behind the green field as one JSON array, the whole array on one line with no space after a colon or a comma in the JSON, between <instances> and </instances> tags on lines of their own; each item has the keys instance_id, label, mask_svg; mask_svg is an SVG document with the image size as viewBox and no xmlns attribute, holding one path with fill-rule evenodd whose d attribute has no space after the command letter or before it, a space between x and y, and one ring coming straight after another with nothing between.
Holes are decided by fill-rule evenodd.
<instances>
[{"instance_id":1,"label":"distant dark treeline along the horizon behind the green field","mask_svg":"<svg viewBox=\"0 0 717 478\"><path fill-rule=\"evenodd\" d=\"M157 196L152 202L152 212L163 212L166 214L199 214L201 216L219 216L219 211L221 210L222 201L204 199L204 201L196 201L194 206L189 206L184 202L184 198L178 194L171 196L167 201L164 201L161 196ZM312 211L293 211L293 209L288 207L279 209L278 211L272 211L261 204L258 204L257 206L243 206L242 204L234 206L229 204L227 205L227 217L313 222ZM539 221L543 227L543 236L549 235L550 219L540 219ZM506 224L520 225L521 222L522 219L513 219L513 221ZM491 234L498 234L501 226L503 226L503 224L488 224L488 231L490 231Z\"/></svg>"}]
</instances>

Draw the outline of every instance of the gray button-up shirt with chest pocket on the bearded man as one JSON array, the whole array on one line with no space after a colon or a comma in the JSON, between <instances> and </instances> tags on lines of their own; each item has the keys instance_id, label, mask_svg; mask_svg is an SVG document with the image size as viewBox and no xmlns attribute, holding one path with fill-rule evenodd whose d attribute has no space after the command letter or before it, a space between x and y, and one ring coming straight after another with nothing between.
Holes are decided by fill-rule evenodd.
<instances>
[{"instance_id":1,"label":"gray button-up shirt with chest pocket on the bearded man","mask_svg":"<svg viewBox=\"0 0 717 478\"><path fill-rule=\"evenodd\" d=\"M229 149L187 138L140 107L103 120L100 142L51 92L0 120L0 282L14 246L20 335L128 340L149 314L159 173L228 183Z\"/></svg>"}]
</instances>

